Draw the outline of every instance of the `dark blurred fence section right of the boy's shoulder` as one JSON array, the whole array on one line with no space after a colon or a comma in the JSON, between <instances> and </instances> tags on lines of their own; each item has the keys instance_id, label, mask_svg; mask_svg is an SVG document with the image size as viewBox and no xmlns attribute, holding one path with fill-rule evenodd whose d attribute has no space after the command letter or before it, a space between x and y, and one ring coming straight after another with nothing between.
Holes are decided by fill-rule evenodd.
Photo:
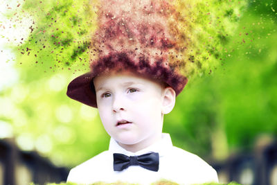
<instances>
[{"instance_id":1,"label":"dark blurred fence section right of the boy's shoulder","mask_svg":"<svg viewBox=\"0 0 277 185\"><path fill-rule=\"evenodd\" d=\"M277 142L257 146L251 152L231 155L221 163L211 163L220 182L249 185L277 185Z\"/></svg>"}]
</instances>

